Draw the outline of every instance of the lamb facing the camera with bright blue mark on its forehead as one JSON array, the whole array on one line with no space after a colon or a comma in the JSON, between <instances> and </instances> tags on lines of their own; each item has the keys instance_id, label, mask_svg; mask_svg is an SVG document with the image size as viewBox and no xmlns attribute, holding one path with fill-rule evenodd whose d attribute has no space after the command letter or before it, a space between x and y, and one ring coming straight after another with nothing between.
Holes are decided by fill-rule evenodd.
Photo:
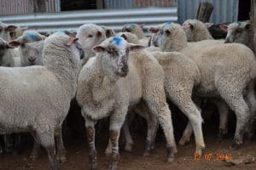
<instances>
[{"instance_id":1,"label":"lamb facing the camera with bright blue mark on its forehead","mask_svg":"<svg viewBox=\"0 0 256 170\"><path fill-rule=\"evenodd\" d=\"M168 161L174 159L177 148L171 111L166 104L164 72L156 59L146 51L132 52L142 48L141 45L126 42L122 37L110 37L93 48L96 57L89 59L79 73L76 99L85 119L90 169L96 169L96 121L110 116L110 169L117 169L119 130L125 121L128 107L136 105L141 99L158 117L166 135Z\"/></svg>"}]
</instances>

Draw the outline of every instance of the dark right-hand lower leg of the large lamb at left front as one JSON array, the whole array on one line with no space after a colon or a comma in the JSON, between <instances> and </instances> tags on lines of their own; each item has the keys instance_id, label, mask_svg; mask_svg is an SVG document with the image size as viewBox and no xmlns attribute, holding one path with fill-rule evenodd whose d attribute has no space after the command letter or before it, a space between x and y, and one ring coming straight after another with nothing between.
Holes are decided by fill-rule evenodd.
<instances>
[{"instance_id":1,"label":"dark right-hand lower leg of the large lamb at left front","mask_svg":"<svg viewBox=\"0 0 256 170\"><path fill-rule=\"evenodd\" d=\"M55 144L57 161L59 161L59 163L67 162L67 150L65 149L63 144L61 127L55 128Z\"/></svg>"}]
</instances>

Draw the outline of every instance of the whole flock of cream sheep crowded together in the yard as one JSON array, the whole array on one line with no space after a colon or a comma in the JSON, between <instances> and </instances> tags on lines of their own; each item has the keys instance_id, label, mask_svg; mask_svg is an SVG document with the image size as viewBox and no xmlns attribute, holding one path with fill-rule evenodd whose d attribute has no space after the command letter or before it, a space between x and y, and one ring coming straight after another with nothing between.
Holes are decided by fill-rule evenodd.
<instances>
[{"instance_id":1,"label":"whole flock of cream sheep crowded together in the yard","mask_svg":"<svg viewBox=\"0 0 256 170\"><path fill-rule=\"evenodd\" d=\"M97 163L96 122L109 117L105 152L111 156L109 169L117 169L122 127L125 150L132 149L125 121L132 113L148 124L144 156L154 148L160 125L167 160L174 161L177 146L166 99L188 117L179 144L189 142L194 132L197 155L205 149L202 99L218 107L220 139L228 133L229 109L236 114L233 146L239 147L245 134L252 137L256 59L249 23L230 24L225 40L214 40L199 20L186 20L183 26L167 22L148 31L150 38L137 24L127 24L119 33L85 24L77 33L56 31L46 37L0 22L0 133L6 143L9 133L32 133L31 158L38 157L42 145L50 169L57 169L57 161L67 161L61 125L72 99L84 116L90 169Z\"/></svg>"}]
</instances>

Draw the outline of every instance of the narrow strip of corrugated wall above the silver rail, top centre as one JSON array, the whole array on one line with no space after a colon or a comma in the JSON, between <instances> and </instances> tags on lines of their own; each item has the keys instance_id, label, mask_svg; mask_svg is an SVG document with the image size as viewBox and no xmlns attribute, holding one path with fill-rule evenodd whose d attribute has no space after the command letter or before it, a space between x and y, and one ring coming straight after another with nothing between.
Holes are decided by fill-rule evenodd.
<instances>
[{"instance_id":1,"label":"narrow strip of corrugated wall above the silver rail, top centre","mask_svg":"<svg viewBox=\"0 0 256 170\"><path fill-rule=\"evenodd\" d=\"M171 7L177 0L104 0L105 8Z\"/></svg>"}]
</instances>

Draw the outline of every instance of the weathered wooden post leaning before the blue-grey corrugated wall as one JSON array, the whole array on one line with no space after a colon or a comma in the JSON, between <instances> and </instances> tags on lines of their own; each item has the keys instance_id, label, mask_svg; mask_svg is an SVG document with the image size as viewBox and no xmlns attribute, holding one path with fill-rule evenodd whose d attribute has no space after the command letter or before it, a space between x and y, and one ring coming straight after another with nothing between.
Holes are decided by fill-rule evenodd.
<instances>
[{"instance_id":1,"label":"weathered wooden post leaning before the blue-grey corrugated wall","mask_svg":"<svg viewBox=\"0 0 256 170\"><path fill-rule=\"evenodd\" d=\"M201 20L202 22L209 22L212 10L212 3L200 3L197 9L196 20Z\"/></svg>"}]
</instances>

